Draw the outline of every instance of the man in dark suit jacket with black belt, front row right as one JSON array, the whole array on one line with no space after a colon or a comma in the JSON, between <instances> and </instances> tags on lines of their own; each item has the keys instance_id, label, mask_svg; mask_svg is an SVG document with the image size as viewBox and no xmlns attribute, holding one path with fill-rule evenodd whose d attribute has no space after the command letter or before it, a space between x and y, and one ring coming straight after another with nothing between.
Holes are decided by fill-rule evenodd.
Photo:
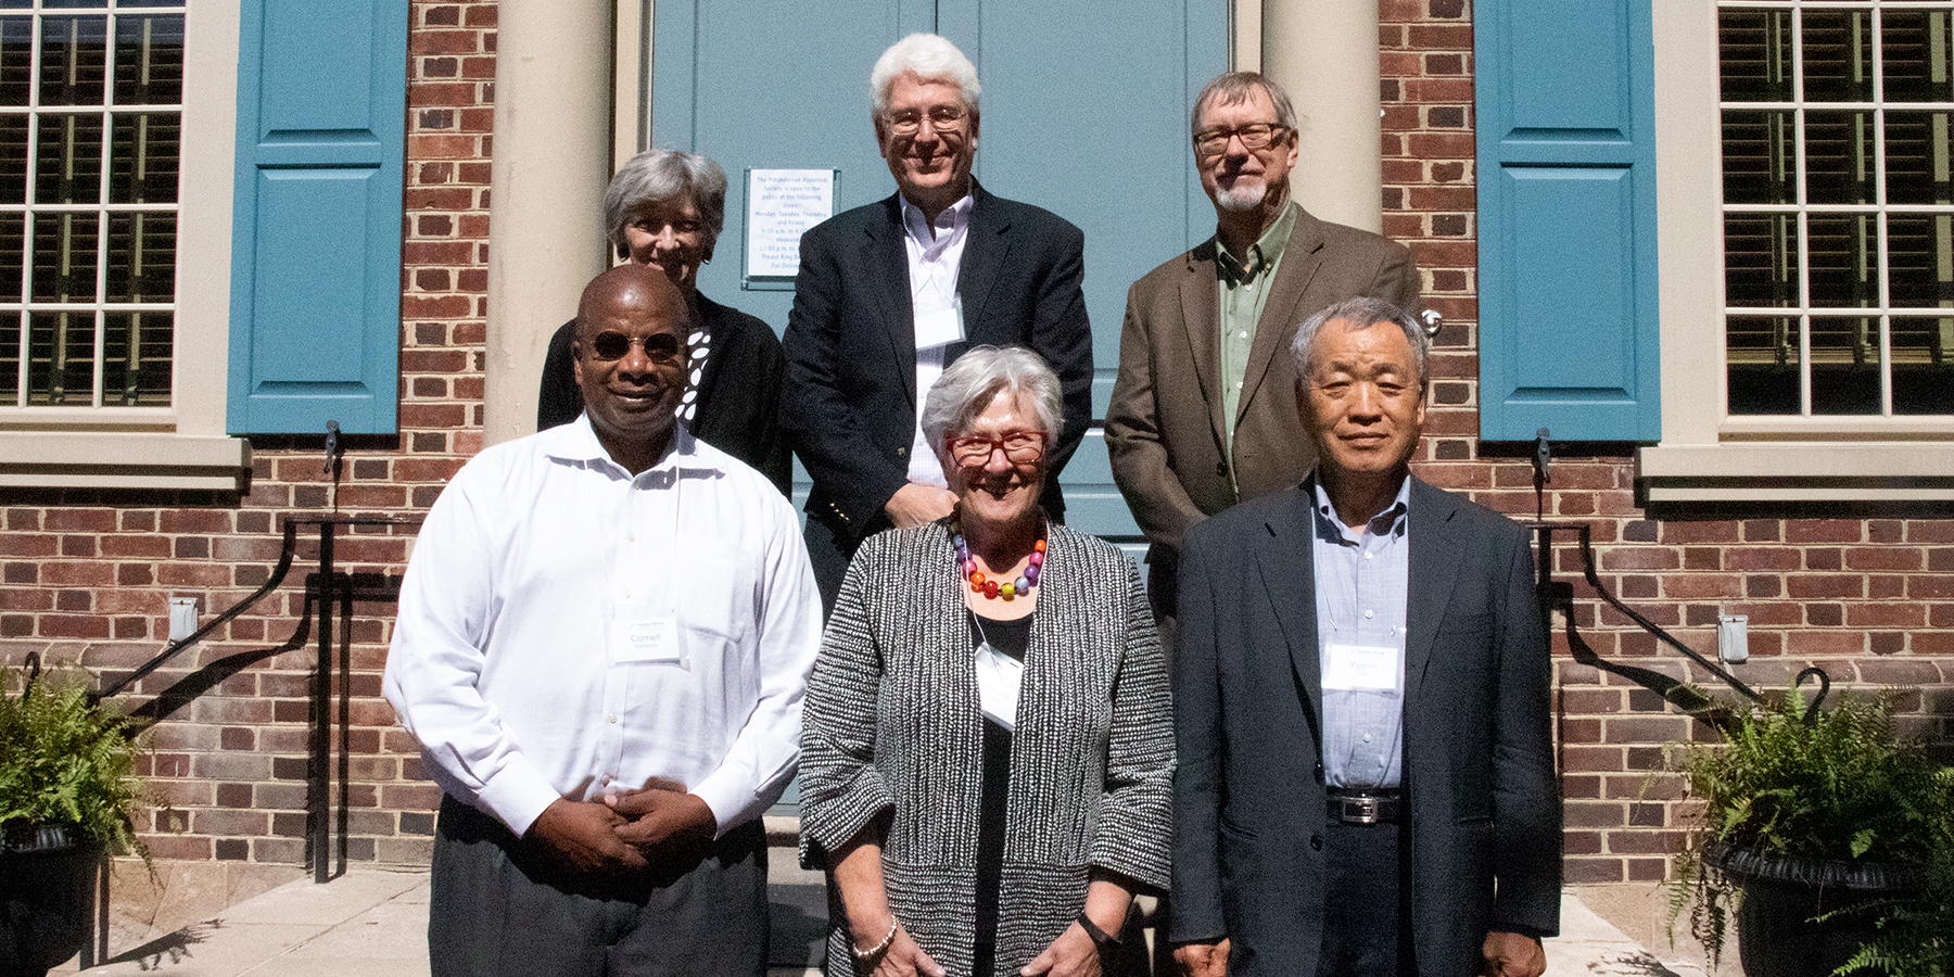
<instances>
[{"instance_id":1,"label":"man in dark suit jacket with black belt, front row right","mask_svg":"<svg viewBox=\"0 0 1954 977\"><path fill-rule=\"evenodd\" d=\"M1426 338L1297 330L1317 469L1188 533L1174 956L1249 977L1538 977L1561 807L1530 537L1409 473Z\"/></svg>"}]
</instances>

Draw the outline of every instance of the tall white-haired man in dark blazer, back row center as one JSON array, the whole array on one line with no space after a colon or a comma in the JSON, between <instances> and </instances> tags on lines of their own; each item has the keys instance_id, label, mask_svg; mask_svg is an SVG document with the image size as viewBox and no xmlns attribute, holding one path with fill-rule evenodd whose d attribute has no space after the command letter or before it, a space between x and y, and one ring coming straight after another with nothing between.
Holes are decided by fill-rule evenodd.
<instances>
[{"instance_id":1,"label":"tall white-haired man in dark blazer, back row center","mask_svg":"<svg viewBox=\"0 0 1954 977\"><path fill-rule=\"evenodd\" d=\"M1084 234L971 178L977 70L950 41L916 33L881 55L870 88L897 193L801 236L780 399L780 426L815 483L807 551L828 608L862 539L950 514L916 414L926 383L965 350L1028 346L1059 375L1065 430L1043 490L1055 520L1059 471L1092 422Z\"/></svg>"}]
</instances>

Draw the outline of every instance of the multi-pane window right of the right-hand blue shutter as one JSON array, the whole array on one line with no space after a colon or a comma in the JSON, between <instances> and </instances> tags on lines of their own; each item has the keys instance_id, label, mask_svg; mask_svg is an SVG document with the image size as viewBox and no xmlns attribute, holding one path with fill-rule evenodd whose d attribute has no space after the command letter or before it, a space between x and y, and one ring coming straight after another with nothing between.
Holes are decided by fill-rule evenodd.
<instances>
[{"instance_id":1,"label":"multi-pane window right of the right-hand blue shutter","mask_svg":"<svg viewBox=\"0 0 1954 977\"><path fill-rule=\"evenodd\" d=\"M1954 414L1954 4L1718 4L1727 412Z\"/></svg>"}]
</instances>

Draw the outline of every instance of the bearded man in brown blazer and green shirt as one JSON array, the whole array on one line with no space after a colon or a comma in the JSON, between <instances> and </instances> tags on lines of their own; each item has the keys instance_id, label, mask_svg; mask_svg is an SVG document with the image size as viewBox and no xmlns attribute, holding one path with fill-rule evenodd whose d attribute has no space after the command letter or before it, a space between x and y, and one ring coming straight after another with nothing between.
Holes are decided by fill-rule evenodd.
<instances>
[{"instance_id":1,"label":"bearded man in brown blazer and green shirt","mask_svg":"<svg viewBox=\"0 0 1954 977\"><path fill-rule=\"evenodd\" d=\"M1112 475L1147 533L1155 614L1174 614L1182 533L1315 465L1296 404L1296 326L1368 295L1419 311L1411 252L1290 199L1296 109L1276 82L1229 72L1194 100L1194 164L1215 236L1126 297L1106 414Z\"/></svg>"}]
</instances>

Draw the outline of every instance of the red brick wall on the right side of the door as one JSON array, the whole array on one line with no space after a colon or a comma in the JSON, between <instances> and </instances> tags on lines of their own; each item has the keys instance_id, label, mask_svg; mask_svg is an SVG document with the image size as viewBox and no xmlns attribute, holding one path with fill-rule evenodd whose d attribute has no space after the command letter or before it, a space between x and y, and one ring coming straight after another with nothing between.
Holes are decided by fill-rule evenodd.
<instances>
[{"instance_id":1,"label":"red brick wall on the right side of the door","mask_svg":"<svg viewBox=\"0 0 1954 977\"><path fill-rule=\"evenodd\" d=\"M1383 229L1411 244L1426 305L1446 317L1432 356L1432 401L1419 473L1516 518L1534 516L1530 446L1481 446L1477 412L1477 252L1471 6L1380 0ZM1561 447L1567 449L1565 446ZM1634 498L1634 455L1591 447L1555 459L1546 518L1593 526L1600 580L1690 649L1716 657L1718 614L1751 617L1757 688L1784 688L1805 664L1835 684L1901 690L1901 725L1954 741L1954 520L1649 520ZM1659 649L1594 598L1565 545L1555 573L1575 582L1575 625L1608 660L1721 688ZM1555 617L1555 627L1561 627ZM1686 805L1663 744L1710 733L1659 696L1579 664L1555 635L1555 729L1567 795L1567 881L1653 881L1680 844ZM1835 686L1837 688L1837 686Z\"/></svg>"}]
</instances>

